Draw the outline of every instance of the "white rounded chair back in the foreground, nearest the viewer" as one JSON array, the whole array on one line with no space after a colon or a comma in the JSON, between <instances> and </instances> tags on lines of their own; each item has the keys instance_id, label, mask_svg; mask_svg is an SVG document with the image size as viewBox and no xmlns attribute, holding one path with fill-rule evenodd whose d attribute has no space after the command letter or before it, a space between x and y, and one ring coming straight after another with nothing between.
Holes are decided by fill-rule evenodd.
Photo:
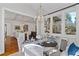
<instances>
[{"instance_id":1,"label":"white rounded chair back in the foreground, nearest the viewer","mask_svg":"<svg viewBox=\"0 0 79 59\"><path fill-rule=\"evenodd\" d=\"M26 44L22 52L25 56L43 56L43 47L37 44Z\"/></svg>"}]
</instances>

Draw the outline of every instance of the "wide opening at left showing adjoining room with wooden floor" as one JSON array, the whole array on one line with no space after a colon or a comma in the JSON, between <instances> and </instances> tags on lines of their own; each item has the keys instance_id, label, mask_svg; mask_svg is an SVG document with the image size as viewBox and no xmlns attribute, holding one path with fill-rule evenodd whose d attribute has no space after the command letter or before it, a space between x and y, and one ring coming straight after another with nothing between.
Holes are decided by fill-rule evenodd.
<instances>
[{"instance_id":1,"label":"wide opening at left showing adjoining room with wooden floor","mask_svg":"<svg viewBox=\"0 0 79 59\"><path fill-rule=\"evenodd\" d=\"M20 51L21 43L27 40L33 31L34 21L32 17L25 16L14 11L4 10L5 52L2 55L10 55ZM32 29L31 29L32 28Z\"/></svg>"}]
</instances>

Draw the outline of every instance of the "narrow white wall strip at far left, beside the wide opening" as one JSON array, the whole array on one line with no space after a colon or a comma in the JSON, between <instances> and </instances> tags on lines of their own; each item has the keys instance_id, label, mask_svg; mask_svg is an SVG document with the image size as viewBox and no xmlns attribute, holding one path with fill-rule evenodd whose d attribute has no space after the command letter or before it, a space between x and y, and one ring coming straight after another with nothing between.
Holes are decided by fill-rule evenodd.
<instances>
[{"instance_id":1,"label":"narrow white wall strip at far left, beside the wide opening","mask_svg":"<svg viewBox=\"0 0 79 59\"><path fill-rule=\"evenodd\" d=\"M4 12L0 9L0 54L4 53Z\"/></svg>"}]
</instances>

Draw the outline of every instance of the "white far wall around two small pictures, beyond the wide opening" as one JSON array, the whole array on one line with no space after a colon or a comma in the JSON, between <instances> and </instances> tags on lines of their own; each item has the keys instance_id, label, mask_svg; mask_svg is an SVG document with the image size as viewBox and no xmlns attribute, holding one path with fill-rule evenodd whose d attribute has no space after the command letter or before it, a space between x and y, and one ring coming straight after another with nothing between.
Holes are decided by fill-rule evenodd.
<instances>
[{"instance_id":1,"label":"white far wall around two small pictures, beyond the wide opening","mask_svg":"<svg viewBox=\"0 0 79 59\"><path fill-rule=\"evenodd\" d=\"M14 35L15 33L15 26L20 25L21 29L24 24L28 25L28 34L31 33L31 31L35 31L35 24L29 23L29 22L22 22L22 21L12 21L12 20L5 20L5 23L7 24L7 35Z\"/></svg>"}]
</instances>

